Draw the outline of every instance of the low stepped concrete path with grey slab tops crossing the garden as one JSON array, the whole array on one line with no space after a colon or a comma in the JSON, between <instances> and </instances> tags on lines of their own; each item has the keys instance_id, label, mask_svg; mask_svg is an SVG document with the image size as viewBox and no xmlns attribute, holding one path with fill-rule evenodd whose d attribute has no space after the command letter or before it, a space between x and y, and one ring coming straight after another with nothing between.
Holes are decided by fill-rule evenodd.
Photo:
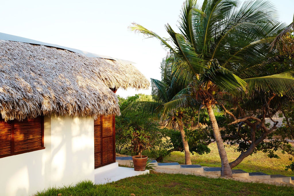
<instances>
[{"instance_id":1,"label":"low stepped concrete path with grey slab tops crossing the garden","mask_svg":"<svg viewBox=\"0 0 294 196\"><path fill-rule=\"evenodd\" d=\"M120 165L130 165L132 157L116 157L116 162ZM202 167L201 165L180 165L178 163L157 163L156 172L162 173L182 173L200 175L206 177L220 177L220 167ZM233 179L244 182L262 182L268 184L294 184L294 176L268 175L262 172L245 172L243 170L232 170Z\"/></svg>"}]
</instances>

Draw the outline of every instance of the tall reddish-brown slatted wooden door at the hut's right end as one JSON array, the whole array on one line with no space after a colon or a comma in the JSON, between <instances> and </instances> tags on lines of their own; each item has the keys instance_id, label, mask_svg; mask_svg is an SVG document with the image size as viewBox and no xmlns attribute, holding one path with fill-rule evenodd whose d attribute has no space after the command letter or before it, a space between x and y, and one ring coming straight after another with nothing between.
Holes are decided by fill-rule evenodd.
<instances>
[{"instance_id":1,"label":"tall reddish-brown slatted wooden door at the hut's right end","mask_svg":"<svg viewBox=\"0 0 294 196\"><path fill-rule=\"evenodd\" d=\"M100 116L94 120L94 148L95 168L115 163L114 116Z\"/></svg>"}]
</instances>

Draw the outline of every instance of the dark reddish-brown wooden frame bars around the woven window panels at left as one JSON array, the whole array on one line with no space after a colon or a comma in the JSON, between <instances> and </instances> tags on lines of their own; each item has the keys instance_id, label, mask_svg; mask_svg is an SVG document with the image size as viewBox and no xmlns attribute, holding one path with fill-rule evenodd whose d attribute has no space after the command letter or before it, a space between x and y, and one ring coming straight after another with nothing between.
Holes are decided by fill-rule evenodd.
<instances>
[{"instance_id":1,"label":"dark reddish-brown wooden frame bars around the woven window panels at left","mask_svg":"<svg viewBox=\"0 0 294 196\"><path fill-rule=\"evenodd\" d=\"M3 120L2 118L0 118L1 120ZM42 145L39 148L33 148L33 149L29 149L29 150L23 150L23 151L19 151L19 152L14 152L14 121L15 120L11 120L11 128L10 128L10 145L11 145L11 151L9 154L5 154L5 155L0 155L0 158L4 158L4 157L9 157L9 156L13 156L13 155L19 155L19 154L23 154L23 153L29 153L29 152L33 152L36 150L43 150L45 149L44 147L44 116L41 116L41 140L42 140Z\"/></svg>"}]
</instances>

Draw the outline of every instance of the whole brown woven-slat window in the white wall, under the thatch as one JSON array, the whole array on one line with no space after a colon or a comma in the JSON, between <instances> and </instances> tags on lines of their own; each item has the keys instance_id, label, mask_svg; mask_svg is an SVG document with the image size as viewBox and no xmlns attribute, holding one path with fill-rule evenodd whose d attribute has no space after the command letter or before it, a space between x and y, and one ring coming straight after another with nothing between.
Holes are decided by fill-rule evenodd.
<instances>
[{"instance_id":1,"label":"whole brown woven-slat window in the white wall, under the thatch","mask_svg":"<svg viewBox=\"0 0 294 196\"><path fill-rule=\"evenodd\" d=\"M0 158L44 149L44 117L0 119Z\"/></svg>"}]
</instances>

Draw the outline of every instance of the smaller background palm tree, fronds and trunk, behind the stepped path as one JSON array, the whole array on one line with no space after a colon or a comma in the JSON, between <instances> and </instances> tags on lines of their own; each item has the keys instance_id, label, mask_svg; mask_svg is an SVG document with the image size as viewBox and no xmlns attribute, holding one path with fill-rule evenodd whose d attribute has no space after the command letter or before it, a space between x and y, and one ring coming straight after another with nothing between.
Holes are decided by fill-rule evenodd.
<instances>
[{"instance_id":1,"label":"smaller background palm tree, fronds and trunk, behind the stepped path","mask_svg":"<svg viewBox=\"0 0 294 196\"><path fill-rule=\"evenodd\" d=\"M132 103L122 111L122 114L126 115L136 111L136 113L142 112L149 115L161 115L162 119L168 118L170 123L177 123L185 152L185 164L191 165L189 145L183 127L183 115L181 113L175 115L176 112L168 108L173 105L173 100L177 101L178 93L186 92L189 88L186 88L186 82L182 81L181 84L177 82L178 77L172 73L171 64L168 61L171 61L171 58L169 60L163 60L161 63L161 81L151 78L153 101ZM169 113L165 112L167 108L170 111Z\"/></svg>"}]
</instances>

